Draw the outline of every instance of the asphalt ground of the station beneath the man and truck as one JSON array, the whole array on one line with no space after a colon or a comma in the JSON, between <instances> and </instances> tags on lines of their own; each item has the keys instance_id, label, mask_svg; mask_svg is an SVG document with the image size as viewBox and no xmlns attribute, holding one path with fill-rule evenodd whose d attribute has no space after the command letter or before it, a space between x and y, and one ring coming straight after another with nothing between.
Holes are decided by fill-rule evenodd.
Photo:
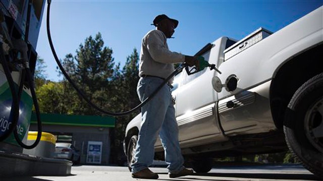
<instances>
[{"instance_id":1,"label":"asphalt ground of the station beneath the man and truck","mask_svg":"<svg viewBox=\"0 0 323 181\"><path fill-rule=\"evenodd\" d=\"M55 169L55 168L53 168ZM158 173L157 180L176 181L267 181L267 180L323 180L314 176L299 164L290 165L256 165L256 166L223 166L213 168L208 173L193 173L192 175L178 178L169 178L165 167L152 167L152 171ZM0 178L2 181L133 181L155 180L132 178L128 167L120 166L72 166L72 174L69 176L24 176Z\"/></svg>"}]
</instances>

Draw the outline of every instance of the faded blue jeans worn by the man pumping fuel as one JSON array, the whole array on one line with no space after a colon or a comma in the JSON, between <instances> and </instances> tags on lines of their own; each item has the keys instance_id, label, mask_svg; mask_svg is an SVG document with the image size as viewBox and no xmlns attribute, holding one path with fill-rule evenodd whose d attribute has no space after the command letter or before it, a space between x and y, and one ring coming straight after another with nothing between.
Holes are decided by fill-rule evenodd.
<instances>
[{"instance_id":1,"label":"faded blue jeans worn by the man pumping fuel","mask_svg":"<svg viewBox=\"0 0 323 181\"><path fill-rule=\"evenodd\" d=\"M144 101L164 80L158 77L140 78L137 93L140 101ZM165 150L165 161L170 172L184 168L184 159L178 141L178 125L172 103L170 87L163 88L141 108L141 129L135 153L135 162L131 165L135 173L152 164L154 143L159 134Z\"/></svg>"}]
</instances>

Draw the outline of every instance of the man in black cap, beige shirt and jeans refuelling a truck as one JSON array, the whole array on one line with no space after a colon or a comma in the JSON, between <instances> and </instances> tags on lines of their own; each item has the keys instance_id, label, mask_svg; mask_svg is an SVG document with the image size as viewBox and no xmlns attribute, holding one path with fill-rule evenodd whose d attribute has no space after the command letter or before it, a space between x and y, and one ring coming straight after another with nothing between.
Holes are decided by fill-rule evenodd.
<instances>
[{"instance_id":1,"label":"man in black cap, beige shirt and jeans refuelling a truck","mask_svg":"<svg viewBox=\"0 0 323 181\"><path fill-rule=\"evenodd\" d=\"M156 29L149 31L142 39L137 93L144 101L174 71L173 63L186 62L189 66L198 67L196 57L171 52L167 38L171 38L178 21L158 15L153 20ZM170 80L169 85L173 79ZM183 166L184 159L178 141L178 125L172 103L170 86L163 88L141 109L142 122L131 165L132 177L157 179L158 174L149 170L154 157L154 143L159 134L165 150L165 161L168 164L169 176L178 177L193 173Z\"/></svg>"}]
</instances>

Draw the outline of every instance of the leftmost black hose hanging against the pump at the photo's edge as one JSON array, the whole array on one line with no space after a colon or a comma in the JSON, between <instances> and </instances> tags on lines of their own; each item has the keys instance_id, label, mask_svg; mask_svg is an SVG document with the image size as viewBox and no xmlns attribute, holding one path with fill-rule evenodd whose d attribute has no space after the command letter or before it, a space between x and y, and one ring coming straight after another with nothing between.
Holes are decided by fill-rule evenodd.
<instances>
[{"instance_id":1,"label":"leftmost black hose hanging against the pump at the photo's edge","mask_svg":"<svg viewBox=\"0 0 323 181\"><path fill-rule=\"evenodd\" d=\"M14 80L11 76L10 68L7 62L7 57L5 56L5 52L3 50L3 43L0 42L0 63L3 66L9 88L12 94L12 103L11 103L11 110L10 110L10 117L12 119L12 123L10 124L7 131L4 132L3 135L0 136L0 141L3 141L9 137L9 135L17 129L18 119L19 119L19 100L18 95L16 92L16 87ZM10 119L10 118L8 118Z\"/></svg>"}]
</instances>

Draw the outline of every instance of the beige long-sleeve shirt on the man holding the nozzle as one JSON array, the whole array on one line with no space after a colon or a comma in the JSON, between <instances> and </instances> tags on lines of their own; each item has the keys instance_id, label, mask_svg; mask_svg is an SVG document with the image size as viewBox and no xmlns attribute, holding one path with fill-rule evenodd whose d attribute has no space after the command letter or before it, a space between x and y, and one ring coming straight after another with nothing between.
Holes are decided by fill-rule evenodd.
<instances>
[{"instance_id":1,"label":"beige long-sleeve shirt on the man holding the nozzle","mask_svg":"<svg viewBox=\"0 0 323 181\"><path fill-rule=\"evenodd\" d=\"M174 72L174 64L184 62L185 55L168 49L167 37L160 30L149 31L142 39L139 76L153 75L167 78ZM174 77L170 80L172 83Z\"/></svg>"}]
</instances>

